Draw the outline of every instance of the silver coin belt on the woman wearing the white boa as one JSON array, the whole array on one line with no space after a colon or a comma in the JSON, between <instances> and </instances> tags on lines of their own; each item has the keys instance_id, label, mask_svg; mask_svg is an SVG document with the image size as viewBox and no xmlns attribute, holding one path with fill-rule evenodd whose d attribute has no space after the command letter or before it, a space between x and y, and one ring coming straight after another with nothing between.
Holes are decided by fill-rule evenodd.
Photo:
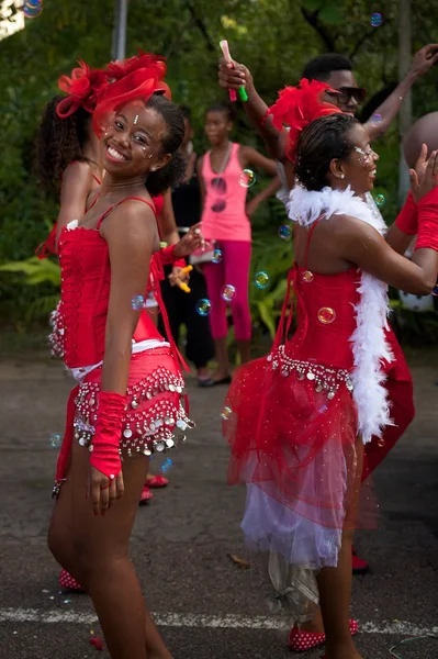
<instances>
[{"instance_id":1,"label":"silver coin belt on the woman wearing the white boa","mask_svg":"<svg viewBox=\"0 0 438 659\"><path fill-rule=\"evenodd\" d=\"M348 370L292 359L285 354L284 345L279 346L276 353L268 355L267 360L271 364L272 370L278 370L283 378L295 375L299 380L310 380L317 393L326 392L328 400L335 398L340 384L345 384L348 391L353 389Z\"/></svg>"}]
</instances>

